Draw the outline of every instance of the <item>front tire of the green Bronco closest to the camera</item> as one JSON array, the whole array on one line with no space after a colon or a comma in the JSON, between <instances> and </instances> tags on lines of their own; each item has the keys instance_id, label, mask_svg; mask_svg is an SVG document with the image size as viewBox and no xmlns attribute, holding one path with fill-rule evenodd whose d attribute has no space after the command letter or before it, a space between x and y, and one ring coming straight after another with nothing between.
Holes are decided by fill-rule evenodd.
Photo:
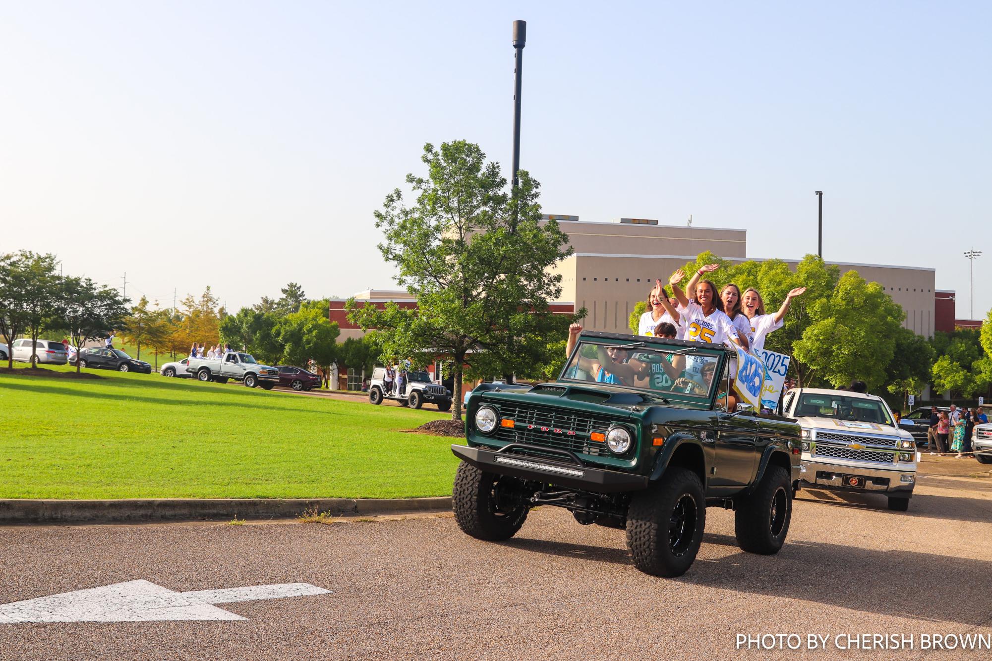
<instances>
[{"instance_id":1,"label":"front tire of the green Bronco closest to the camera","mask_svg":"<svg viewBox=\"0 0 992 661\"><path fill-rule=\"evenodd\" d=\"M706 526L702 483L673 467L661 482L639 492L627 510L627 548L634 566L654 576L682 576L699 551Z\"/></svg>"}]
</instances>

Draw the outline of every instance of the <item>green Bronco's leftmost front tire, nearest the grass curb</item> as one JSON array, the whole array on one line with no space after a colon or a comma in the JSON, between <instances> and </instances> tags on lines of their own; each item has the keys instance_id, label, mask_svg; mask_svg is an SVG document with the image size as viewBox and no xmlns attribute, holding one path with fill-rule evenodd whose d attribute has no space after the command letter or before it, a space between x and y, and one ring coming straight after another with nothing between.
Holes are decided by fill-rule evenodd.
<instances>
[{"instance_id":1,"label":"green Bronco's leftmost front tire, nearest the grass curb","mask_svg":"<svg viewBox=\"0 0 992 661\"><path fill-rule=\"evenodd\" d=\"M513 537L524 525L527 505L509 510L497 506L494 491L500 479L516 480L485 473L466 462L458 464L451 502L454 520L466 535L485 541L501 541Z\"/></svg>"}]
</instances>

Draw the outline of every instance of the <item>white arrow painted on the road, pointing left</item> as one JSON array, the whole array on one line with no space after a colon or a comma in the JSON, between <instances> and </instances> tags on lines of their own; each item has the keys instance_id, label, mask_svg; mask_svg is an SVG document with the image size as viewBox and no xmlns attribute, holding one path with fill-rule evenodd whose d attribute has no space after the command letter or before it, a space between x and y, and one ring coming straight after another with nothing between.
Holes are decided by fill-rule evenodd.
<instances>
[{"instance_id":1,"label":"white arrow painted on the road, pointing left","mask_svg":"<svg viewBox=\"0 0 992 661\"><path fill-rule=\"evenodd\" d=\"M178 593L150 581L128 581L0 606L0 622L142 622L247 619L213 604L327 595L309 583L283 583Z\"/></svg>"}]
</instances>

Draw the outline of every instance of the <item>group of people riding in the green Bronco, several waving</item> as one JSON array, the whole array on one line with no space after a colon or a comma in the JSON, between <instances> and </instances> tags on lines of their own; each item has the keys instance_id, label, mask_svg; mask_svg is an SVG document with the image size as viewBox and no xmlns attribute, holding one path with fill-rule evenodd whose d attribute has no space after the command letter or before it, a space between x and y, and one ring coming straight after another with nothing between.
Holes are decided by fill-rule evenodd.
<instances>
[{"instance_id":1,"label":"group of people riding in the green Bronco, several waving","mask_svg":"<svg viewBox=\"0 0 992 661\"><path fill-rule=\"evenodd\" d=\"M706 274L717 269L719 265L716 264L701 267L684 290L680 285L685 273L680 269L669 278L671 295L661 279L655 280L655 286L648 293L649 309L638 322L638 335L736 345L745 351L757 352L764 348L769 333L782 328L793 298L806 291L806 287L793 289L778 310L767 313L757 289L750 287L742 296L740 287L732 282L718 290L711 280L705 279ZM569 327L565 346L567 356L571 355L581 331L581 324ZM692 356L672 355L660 364L634 363L630 360L630 352L622 347L602 348L595 359L580 357L579 361L584 363L575 367L589 374L591 381L634 385L637 379L648 379L651 386L660 389L691 388L691 383L708 389L715 371L711 362ZM732 394L736 373L737 360L733 359L725 393L731 410L737 405Z\"/></svg>"}]
</instances>

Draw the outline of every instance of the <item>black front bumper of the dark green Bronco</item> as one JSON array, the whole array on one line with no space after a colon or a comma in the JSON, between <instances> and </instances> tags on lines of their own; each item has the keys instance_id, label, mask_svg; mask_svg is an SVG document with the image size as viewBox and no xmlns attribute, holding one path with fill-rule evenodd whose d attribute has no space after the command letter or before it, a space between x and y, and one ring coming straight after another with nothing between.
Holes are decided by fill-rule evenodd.
<instances>
[{"instance_id":1,"label":"black front bumper of the dark green Bronco","mask_svg":"<svg viewBox=\"0 0 992 661\"><path fill-rule=\"evenodd\" d=\"M541 447L534 447L533 450L547 452L547 448ZM647 489L649 484L647 476L589 468L580 463L560 462L534 455L497 452L466 445L452 445L451 452L455 457L486 473L509 475L597 494L637 492Z\"/></svg>"}]
</instances>

